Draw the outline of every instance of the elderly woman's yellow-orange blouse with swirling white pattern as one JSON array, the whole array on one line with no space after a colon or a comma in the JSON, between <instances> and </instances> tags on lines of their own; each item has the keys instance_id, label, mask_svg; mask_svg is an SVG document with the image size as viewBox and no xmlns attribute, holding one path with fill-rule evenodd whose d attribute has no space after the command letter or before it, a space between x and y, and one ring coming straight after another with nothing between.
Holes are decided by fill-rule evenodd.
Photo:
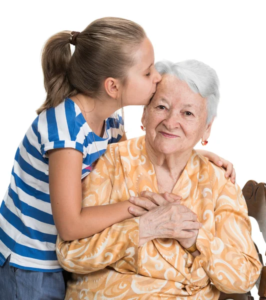
<instances>
[{"instance_id":1,"label":"elderly woman's yellow-orange blouse with swirling white pattern","mask_svg":"<svg viewBox=\"0 0 266 300\"><path fill-rule=\"evenodd\" d=\"M127 200L142 190L158 192L144 136L110 144L82 183L83 206ZM138 247L139 217L91 237L57 239L62 267L74 272L66 299L208 299L246 292L261 264L250 236L247 207L238 185L194 150L173 193L203 224L195 258L177 240L156 238ZM100 220L99 220L100 222Z\"/></svg>"}]
</instances>

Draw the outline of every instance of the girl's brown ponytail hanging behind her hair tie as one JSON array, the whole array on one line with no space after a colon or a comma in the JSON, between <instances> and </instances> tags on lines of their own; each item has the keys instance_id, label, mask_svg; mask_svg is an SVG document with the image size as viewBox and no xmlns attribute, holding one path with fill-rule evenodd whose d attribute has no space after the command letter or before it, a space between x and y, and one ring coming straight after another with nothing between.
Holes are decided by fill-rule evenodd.
<instances>
[{"instance_id":1,"label":"girl's brown ponytail hanging behind her hair tie","mask_svg":"<svg viewBox=\"0 0 266 300\"><path fill-rule=\"evenodd\" d=\"M74 89L67 78L71 58L69 36L70 31L61 31L52 35L44 44L41 66L47 95L43 104L36 110L37 114L58 105Z\"/></svg>"}]
</instances>

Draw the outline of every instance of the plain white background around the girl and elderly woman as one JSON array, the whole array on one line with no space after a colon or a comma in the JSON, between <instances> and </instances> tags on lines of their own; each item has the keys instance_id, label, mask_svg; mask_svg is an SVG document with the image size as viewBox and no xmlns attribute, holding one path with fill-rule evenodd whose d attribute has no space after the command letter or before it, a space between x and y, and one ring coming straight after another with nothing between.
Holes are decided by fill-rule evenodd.
<instances>
[{"instance_id":1,"label":"plain white background around the girl and elderly woman","mask_svg":"<svg viewBox=\"0 0 266 300\"><path fill-rule=\"evenodd\" d=\"M233 162L240 187L248 179L266 181L265 14L264 0L5 1L0 18L0 194L9 184L18 143L45 97L40 66L44 41L61 30L81 31L103 16L142 25L155 61L194 58L216 70L220 104L204 148ZM142 108L124 111L127 137L141 135ZM262 235L254 238L265 253Z\"/></svg>"}]
</instances>

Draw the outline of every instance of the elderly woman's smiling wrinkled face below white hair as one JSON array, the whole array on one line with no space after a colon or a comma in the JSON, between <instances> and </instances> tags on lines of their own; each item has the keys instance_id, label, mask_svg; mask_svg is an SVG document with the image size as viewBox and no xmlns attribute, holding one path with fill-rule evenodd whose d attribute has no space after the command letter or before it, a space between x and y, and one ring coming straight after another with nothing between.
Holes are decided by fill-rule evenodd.
<instances>
[{"instance_id":1,"label":"elderly woman's smiling wrinkled face below white hair","mask_svg":"<svg viewBox=\"0 0 266 300\"><path fill-rule=\"evenodd\" d=\"M148 143L170 154L191 150L201 137L207 139L211 124L206 124L206 118L206 99L184 81L165 74L144 109L142 123Z\"/></svg>"}]
</instances>

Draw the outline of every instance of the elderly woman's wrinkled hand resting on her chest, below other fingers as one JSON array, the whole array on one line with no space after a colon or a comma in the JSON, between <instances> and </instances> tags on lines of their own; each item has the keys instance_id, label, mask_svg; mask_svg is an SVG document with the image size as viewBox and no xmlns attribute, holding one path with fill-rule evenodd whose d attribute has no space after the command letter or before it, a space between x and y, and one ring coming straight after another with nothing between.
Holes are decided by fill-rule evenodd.
<instances>
[{"instance_id":1,"label":"elderly woman's wrinkled hand resting on her chest, below other fingers","mask_svg":"<svg viewBox=\"0 0 266 300\"><path fill-rule=\"evenodd\" d=\"M154 238L181 239L183 244L189 244L197 236L193 230L201 228L196 219L197 215L178 201L158 206L140 216L138 245Z\"/></svg>"}]
</instances>

